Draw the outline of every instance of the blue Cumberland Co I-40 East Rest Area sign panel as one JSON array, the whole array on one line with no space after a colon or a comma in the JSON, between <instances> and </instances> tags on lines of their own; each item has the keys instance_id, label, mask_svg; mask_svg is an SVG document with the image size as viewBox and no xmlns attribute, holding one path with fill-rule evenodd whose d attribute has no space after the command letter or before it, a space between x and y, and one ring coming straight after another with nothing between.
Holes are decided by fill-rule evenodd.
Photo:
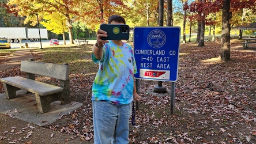
<instances>
[{"instance_id":1,"label":"blue Cumberland Co I-40 East Rest Area sign panel","mask_svg":"<svg viewBox=\"0 0 256 144\"><path fill-rule=\"evenodd\" d=\"M135 78L155 81L178 79L180 27L135 27Z\"/></svg>"}]
</instances>

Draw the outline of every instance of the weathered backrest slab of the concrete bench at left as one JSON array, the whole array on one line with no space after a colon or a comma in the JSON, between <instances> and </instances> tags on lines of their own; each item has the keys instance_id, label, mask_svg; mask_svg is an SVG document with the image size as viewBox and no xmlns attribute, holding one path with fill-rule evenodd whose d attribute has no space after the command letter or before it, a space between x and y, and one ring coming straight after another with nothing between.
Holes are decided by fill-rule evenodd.
<instances>
[{"instance_id":1,"label":"weathered backrest slab of the concrete bench at left","mask_svg":"<svg viewBox=\"0 0 256 144\"><path fill-rule=\"evenodd\" d=\"M21 60L21 71L62 79L64 81L69 79L69 66L66 65Z\"/></svg>"}]
</instances>

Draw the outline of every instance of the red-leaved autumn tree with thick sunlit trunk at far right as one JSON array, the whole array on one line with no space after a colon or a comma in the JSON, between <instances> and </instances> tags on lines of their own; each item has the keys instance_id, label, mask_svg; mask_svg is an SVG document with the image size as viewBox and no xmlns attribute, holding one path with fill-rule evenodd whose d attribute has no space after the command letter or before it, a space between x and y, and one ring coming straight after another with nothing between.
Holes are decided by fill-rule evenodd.
<instances>
[{"instance_id":1,"label":"red-leaved autumn tree with thick sunlit trunk at far right","mask_svg":"<svg viewBox=\"0 0 256 144\"><path fill-rule=\"evenodd\" d=\"M199 0L204 1L204 0ZM208 16L210 13L217 13L220 9L223 10L222 13L222 31L221 31L221 60L227 61L230 59L230 20L232 13L239 11L240 9L251 9L255 12L256 1L246 1L246 0L208 0L205 5L201 5L203 2L193 2L190 5L190 12L197 13L198 16L202 15L202 10L204 10L203 16ZM194 16L192 16L194 17ZM200 17L197 18L200 20ZM201 23L202 24L202 23ZM202 28L203 29L203 28ZM202 30L201 29L201 30ZM202 31L200 32L202 33ZM199 45L198 45L199 46Z\"/></svg>"}]
</instances>

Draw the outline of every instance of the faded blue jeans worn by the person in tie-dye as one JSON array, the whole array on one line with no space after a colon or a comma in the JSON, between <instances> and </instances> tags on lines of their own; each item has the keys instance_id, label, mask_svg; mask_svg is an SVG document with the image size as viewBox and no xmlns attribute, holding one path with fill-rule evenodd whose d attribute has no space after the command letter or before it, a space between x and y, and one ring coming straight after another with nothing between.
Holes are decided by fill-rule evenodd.
<instances>
[{"instance_id":1,"label":"faded blue jeans worn by the person in tie-dye","mask_svg":"<svg viewBox=\"0 0 256 144\"><path fill-rule=\"evenodd\" d=\"M92 101L95 144L129 143L131 104Z\"/></svg>"}]
</instances>

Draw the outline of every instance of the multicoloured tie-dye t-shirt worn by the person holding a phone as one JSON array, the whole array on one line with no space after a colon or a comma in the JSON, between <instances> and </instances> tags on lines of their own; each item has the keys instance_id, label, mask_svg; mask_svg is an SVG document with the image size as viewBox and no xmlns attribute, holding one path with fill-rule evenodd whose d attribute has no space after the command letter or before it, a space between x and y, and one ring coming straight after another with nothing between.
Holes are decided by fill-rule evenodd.
<instances>
[{"instance_id":1,"label":"multicoloured tie-dye t-shirt worn by the person holding a phone","mask_svg":"<svg viewBox=\"0 0 256 144\"><path fill-rule=\"evenodd\" d=\"M129 104L133 101L133 74L137 73L133 50L129 44L117 46L111 40L103 47L100 60L92 54L99 71L92 86L92 100L106 100L112 104Z\"/></svg>"}]
</instances>

